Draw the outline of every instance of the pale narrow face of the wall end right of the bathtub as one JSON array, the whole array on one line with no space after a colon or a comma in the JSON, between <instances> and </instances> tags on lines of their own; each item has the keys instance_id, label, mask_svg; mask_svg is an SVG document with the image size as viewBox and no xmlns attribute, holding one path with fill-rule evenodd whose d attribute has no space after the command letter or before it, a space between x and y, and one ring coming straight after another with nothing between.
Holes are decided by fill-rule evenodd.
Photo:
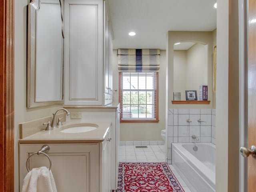
<instances>
[{"instance_id":1,"label":"pale narrow face of the wall end right of the bathtub","mask_svg":"<svg viewBox=\"0 0 256 192\"><path fill-rule=\"evenodd\" d=\"M217 0L216 192L228 192L228 0Z\"/></svg>"}]
</instances>

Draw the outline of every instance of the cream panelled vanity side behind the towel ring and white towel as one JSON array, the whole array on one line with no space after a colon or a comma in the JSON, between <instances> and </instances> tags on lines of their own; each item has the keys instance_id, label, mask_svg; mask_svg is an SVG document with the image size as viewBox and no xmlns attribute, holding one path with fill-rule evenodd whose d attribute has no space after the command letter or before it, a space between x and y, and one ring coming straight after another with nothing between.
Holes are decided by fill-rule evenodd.
<instances>
[{"instance_id":1,"label":"cream panelled vanity side behind the towel ring and white towel","mask_svg":"<svg viewBox=\"0 0 256 192\"><path fill-rule=\"evenodd\" d=\"M20 144L20 191L28 173L26 160L44 144ZM98 192L98 144L48 144L52 174L60 192ZM46 156L37 154L29 159L29 168L49 167Z\"/></svg>"}]
</instances>

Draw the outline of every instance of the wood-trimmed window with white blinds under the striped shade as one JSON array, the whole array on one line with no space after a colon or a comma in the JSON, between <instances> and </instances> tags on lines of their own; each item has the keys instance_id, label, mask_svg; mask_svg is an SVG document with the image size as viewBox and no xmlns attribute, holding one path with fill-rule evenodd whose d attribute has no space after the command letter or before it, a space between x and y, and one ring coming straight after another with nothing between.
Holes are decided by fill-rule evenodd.
<instances>
[{"instance_id":1,"label":"wood-trimmed window with white blinds under the striped shade","mask_svg":"<svg viewBox=\"0 0 256 192\"><path fill-rule=\"evenodd\" d=\"M121 122L158 122L158 72L120 72Z\"/></svg>"}]
</instances>

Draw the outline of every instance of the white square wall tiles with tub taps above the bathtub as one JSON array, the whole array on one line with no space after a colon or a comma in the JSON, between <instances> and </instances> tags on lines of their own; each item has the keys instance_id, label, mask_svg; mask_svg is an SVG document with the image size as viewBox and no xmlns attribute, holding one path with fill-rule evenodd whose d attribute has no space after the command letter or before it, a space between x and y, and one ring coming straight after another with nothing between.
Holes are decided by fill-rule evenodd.
<instances>
[{"instance_id":1,"label":"white square wall tiles with tub taps above the bathtub","mask_svg":"<svg viewBox=\"0 0 256 192\"><path fill-rule=\"evenodd\" d=\"M191 122L186 122L189 119ZM198 119L204 122L198 122ZM172 142L212 142L215 144L216 109L168 109L167 161L172 160ZM193 139L192 135L198 137Z\"/></svg>"}]
</instances>

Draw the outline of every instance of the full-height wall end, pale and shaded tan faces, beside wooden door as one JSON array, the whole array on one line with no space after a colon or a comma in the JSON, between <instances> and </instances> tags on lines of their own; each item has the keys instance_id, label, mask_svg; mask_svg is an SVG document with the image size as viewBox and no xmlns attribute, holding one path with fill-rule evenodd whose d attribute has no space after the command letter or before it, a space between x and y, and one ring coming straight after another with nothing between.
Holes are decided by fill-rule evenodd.
<instances>
[{"instance_id":1,"label":"full-height wall end, pale and shaded tan faces, beside wooden door","mask_svg":"<svg viewBox=\"0 0 256 192\"><path fill-rule=\"evenodd\" d=\"M239 191L239 2L217 0L216 191Z\"/></svg>"}]
</instances>

